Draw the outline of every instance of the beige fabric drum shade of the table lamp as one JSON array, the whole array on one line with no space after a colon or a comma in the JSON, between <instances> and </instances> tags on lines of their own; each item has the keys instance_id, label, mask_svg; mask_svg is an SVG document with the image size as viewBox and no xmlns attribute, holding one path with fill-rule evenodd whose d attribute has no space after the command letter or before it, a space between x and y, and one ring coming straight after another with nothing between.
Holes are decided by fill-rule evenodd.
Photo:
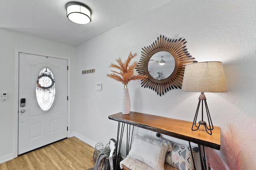
<instances>
[{"instance_id":1,"label":"beige fabric drum shade of the table lamp","mask_svg":"<svg viewBox=\"0 0 256 170\"><path fill-rule=\"evenodd\" d=\"M181 90L188 92L228 92L222 62L187 64Z\"/></svg>"}]
</instances>

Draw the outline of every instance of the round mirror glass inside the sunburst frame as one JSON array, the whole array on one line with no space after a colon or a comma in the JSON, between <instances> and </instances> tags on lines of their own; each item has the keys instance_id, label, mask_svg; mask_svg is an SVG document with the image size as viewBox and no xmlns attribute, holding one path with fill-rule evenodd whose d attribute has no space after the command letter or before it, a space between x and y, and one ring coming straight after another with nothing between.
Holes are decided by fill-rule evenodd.
<instances>
[{"instance_id":1,"label":"round mirror glass inside the sunburst frame","mask_svg":"<svg viewBox=\"0 0 256 170\"><path fill-rule=\"evenodd\" d=\"M167 51L159 51L148 61L148 73L156 80L168 78L175 68L174 57Z\"/></svg>"}]
</instances>

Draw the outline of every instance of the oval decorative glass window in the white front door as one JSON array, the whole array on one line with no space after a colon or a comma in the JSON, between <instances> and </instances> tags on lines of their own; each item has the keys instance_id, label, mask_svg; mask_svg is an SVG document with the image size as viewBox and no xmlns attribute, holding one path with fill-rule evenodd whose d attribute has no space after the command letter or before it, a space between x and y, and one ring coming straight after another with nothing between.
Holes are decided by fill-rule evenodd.
<instances>
[{"instance_id":1,"label":"oval decorative glass window in the white front door","mask_svg":"<svg viewBox=\"0 0 256 170\"><path fill-rule=\"evenodd\" d=\"M36 80L36 99L42 110L48 111L55 98L55 80L52 71L45 67L43 68Z\"/></svg>"}]
</instances>

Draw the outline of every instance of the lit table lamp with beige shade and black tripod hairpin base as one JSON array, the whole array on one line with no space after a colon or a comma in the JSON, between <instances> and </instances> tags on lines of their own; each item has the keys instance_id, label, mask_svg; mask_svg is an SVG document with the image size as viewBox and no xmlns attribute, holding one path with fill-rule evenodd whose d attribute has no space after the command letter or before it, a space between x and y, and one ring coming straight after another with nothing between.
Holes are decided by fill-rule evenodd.
<instances>
[{"instance_id":1,"label":"lit table lamp with beige shade and black tripod hairpin base","mask_svg":"<svg viewBox=\"0 0 256 170\"><path fill-rule=\"evenodd\" d=\"M182 91L201 92L199 96L198 106L194 117L192 131L199 129L200 125L204 125L208 134L212 135L213 125L206 103L204 92L228 92L226 79L222 62L210 61L201 63L192 63L185 66L184 77L182 82ZM200 103L202 101L202 119L196 123ZM208 125L204 121L203 105L205 104Z\"/></svg>"}]
</instances>

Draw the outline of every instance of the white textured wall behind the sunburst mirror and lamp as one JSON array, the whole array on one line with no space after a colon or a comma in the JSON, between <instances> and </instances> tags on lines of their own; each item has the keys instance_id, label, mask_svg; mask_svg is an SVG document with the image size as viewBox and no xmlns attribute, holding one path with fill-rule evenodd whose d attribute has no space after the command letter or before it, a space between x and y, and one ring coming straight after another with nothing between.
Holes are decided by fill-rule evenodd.
<instances>
[{"instance_id":1,"label":"white textured wall behind the sunburst mirror and lamp","mask_svg":"<svg viewBox=\"0 0 256 170\"><path fill-rule=\"evenodd\" d=\"M222 132L234 126L244 169L256 167L256 1L173 0L143 17L116 27L77 47L75 135L90 145L116 138L117 122L108 115L121 110L123 85L108 77L110 62L150 45L160 35L186 38L188 52L202 61L222 61L229 92L206 93L213 124ZM95 73L81 74L95 68ZM102 83L96 91L95 84ZM128 84L131 110L192 121L199 93L171 90L157 96ZM140 131L142 133L143 131ZM144 133L144 132L143 132ZM151 133L155 136L155 133Z\"/></svg>"}]
</instances>

